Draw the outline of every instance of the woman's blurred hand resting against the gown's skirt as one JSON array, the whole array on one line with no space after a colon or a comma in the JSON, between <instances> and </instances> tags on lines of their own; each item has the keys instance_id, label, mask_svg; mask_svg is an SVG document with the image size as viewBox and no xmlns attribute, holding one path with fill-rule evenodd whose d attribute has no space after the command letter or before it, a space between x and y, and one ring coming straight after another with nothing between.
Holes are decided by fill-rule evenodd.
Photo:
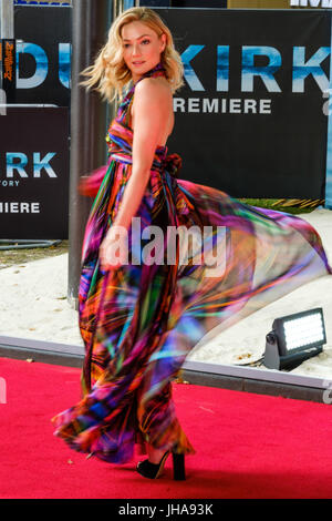
<instances>
[{"instance_id":1,"label":"woman's blurred hand resting against the gown's skirt","mask_svg":"<svg viewBox=\"0 0 332 521\"><path fill-rule=\"evenodd\" d=\"M115 269L127 263L128 234L124 226L113 225L100 246L101 268Z\"/></svg>"}]
</instances>

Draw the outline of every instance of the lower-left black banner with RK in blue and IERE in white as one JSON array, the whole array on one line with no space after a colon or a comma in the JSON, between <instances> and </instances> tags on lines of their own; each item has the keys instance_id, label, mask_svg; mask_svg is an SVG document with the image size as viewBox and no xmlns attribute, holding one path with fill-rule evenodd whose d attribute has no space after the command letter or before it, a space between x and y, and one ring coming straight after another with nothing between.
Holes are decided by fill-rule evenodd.
<instances>
[{"instance_id":1,"label":"lower-left black banner with RK in blue and IERE in white","mask_svg":"<svg viewBox=\"0 0 332 521\"><path fill-rule=\"evenodd\" d=\"M0 238L68 238L69 109L8 108L0 121Z\"/></svg>"}]
</instances>

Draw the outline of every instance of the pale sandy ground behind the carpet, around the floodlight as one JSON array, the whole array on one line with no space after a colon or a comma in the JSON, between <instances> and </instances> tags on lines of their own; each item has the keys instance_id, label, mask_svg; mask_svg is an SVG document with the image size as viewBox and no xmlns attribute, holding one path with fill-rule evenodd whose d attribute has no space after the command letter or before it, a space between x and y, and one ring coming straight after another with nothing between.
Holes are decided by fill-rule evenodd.
<instances>
[{"instance_id":1,"label":"pale sandy ground behind the carpet, around the floodlight","mask_svg":"<svg viewBox=\"0 0 332 521\"><path fill-rule=\"evenodd\" d=\"M332 212L315 210L301 217L320 233L331 264ZM55 341L83 348L77 311L66 299L68 262L68 254L64 254L0 269L0 337ZM314 307L323 308L328 343L322 354L305 360L292 372L332 379L332 276L307 284L242 319L190 354L188 359L222 365L258 360L264 353L264 338L274 318ZM260 367L264 369L264 366Z\"/></svg>"}]
</instances>

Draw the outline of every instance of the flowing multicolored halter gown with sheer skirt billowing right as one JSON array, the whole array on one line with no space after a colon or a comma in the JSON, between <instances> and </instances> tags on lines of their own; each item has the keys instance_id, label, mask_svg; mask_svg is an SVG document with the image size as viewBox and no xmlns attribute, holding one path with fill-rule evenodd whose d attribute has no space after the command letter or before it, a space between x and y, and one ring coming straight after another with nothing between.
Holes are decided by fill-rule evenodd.
<instances>
[{"instance_id":1,"label":"flowing multicolored halter gown with sheer skirt billowing right","mask_svg":"<svg viewBox=\"0 0 332 521\"><path fill-rule=\"evenodd\" d=\"M166 75L160 63L141 80L157 75ZM134 91L135 85L110 126L107 165L81 186L95 196L79 290L83 399L53 419L55 435L71 448L117 463L132 459L135 442L194 453L172 399L172 379L188 353L215 331L332 273L320 236L307 222L178 178L180 157L167 155L167 146L155 151L135 214L141 236L131 236L133 225L128 234L128 262L102 270L98 248L132 173ZM146 251L144 229L158 229L162 243ZM181 235L174 241L169 229Z\"/></svg>"}]
</instances>

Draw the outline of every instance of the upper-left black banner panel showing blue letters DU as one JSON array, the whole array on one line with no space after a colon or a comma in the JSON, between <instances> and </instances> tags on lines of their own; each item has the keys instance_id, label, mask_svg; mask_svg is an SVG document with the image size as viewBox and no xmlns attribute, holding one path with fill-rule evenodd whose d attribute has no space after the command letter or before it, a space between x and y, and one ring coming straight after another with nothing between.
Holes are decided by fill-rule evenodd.
<instances>
[{"instance_id":1,"label":"upper-left black banner panel showing blue letters DU","mask_svg":"<svg viewBox=\"0 0 332 521\"><path fill-rule=\"evenodd\" d=\"M71 7L15 6L15 103L70 106Z\"/></svg>"}]
</instances>

